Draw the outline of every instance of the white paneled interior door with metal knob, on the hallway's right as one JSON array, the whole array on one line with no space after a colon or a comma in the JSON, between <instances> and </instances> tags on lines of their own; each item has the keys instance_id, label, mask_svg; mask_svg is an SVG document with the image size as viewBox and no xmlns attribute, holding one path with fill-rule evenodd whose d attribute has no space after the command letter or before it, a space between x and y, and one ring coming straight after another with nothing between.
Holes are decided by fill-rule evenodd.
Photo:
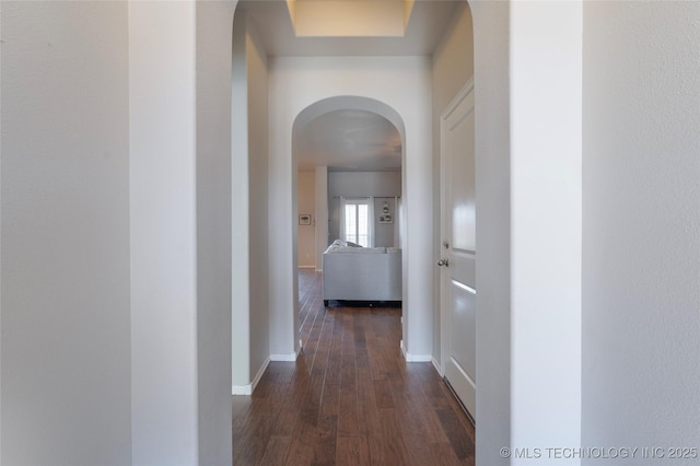
<instances>
[{"instance_id":1,"label":"white paneled interior door with metal knob, on the hallway's right","mask_svg":"<svg viewBox=\"0 0 700 466\"><path fill-rule=\"evenodd\" d=\"M442 365L445 378L476 415L476 218L474 83L441 117Z\"/></svg>"}]
</instances>

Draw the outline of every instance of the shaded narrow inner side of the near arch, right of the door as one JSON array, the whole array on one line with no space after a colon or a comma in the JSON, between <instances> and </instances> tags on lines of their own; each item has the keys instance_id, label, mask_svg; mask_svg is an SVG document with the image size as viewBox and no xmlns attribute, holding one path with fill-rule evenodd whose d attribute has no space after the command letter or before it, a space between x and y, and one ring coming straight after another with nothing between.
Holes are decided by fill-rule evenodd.
<instances>
[{"instance_id":1,"label":"shaded narrow inner side of the near arch, right of the door","mask_svg":"<svg viewBox=\"0 0 700 466\"><path fill-rule=\"evenodd\" d=\"M498 452L511 445L510 11L505 2L469 4L474 18L479 248L476 457L479 464L509 465Z\"/></svg>"}]
</instances>

